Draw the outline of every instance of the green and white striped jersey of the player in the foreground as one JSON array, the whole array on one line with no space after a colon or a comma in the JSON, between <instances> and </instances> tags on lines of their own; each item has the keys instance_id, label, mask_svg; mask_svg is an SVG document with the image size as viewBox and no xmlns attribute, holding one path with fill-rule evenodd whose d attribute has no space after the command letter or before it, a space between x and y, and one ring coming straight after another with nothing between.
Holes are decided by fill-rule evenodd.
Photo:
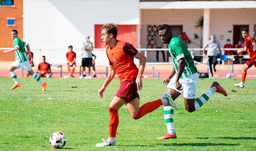
<instances>
[{"instance_id":1,"label":"green and white striped jersey of the player in the foreground","mask_svg":"<svg viewBox=\"0 0 256 151\"><path fill-rule=\"evenodd\" d=\"M181 79L198 72L196 69L196 64L194 63L194 60L187 49L187 45L182 39L173 36L168 47L169 53L173 59L176 74L178 72L179 60L183 57L185 59L186 65L180 77Z\"/></svg>"}]
</instances>

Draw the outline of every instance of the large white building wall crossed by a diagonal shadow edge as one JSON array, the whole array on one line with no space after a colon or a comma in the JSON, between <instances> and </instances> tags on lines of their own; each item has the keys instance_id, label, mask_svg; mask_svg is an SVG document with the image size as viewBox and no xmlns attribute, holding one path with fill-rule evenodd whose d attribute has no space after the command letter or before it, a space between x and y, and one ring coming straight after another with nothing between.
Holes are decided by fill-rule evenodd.
<instances>
[{"instance_id":1,"label":"large white building wall crossed by a diagonal shadow edge","mask_svg":"<svg viewBox=\"0 0 256 151\"><path fill-rule=\"evenodd\" d=\"M65 63L68 46L79 50L86 35L100 38L95 24L139 24L139 0L24 0L23 7L23 39L31 49L52 49L43 53L50 63Z\"/></svg>"}]
</instances>

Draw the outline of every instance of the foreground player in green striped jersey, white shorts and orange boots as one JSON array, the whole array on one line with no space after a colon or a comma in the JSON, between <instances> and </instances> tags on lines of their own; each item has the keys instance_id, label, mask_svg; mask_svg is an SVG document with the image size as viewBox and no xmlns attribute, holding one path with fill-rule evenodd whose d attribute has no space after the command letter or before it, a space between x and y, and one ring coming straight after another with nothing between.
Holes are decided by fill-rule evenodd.
<instances>
[{"instance_id":1,"label":"foreground player in green striped jersey, white shorts and orange boots","mask_svg":"<svg viewBox=\"0 0 256 151\"><path fill-rule=\"evenodd\" d=\"M167 24L160 26L159 36L164 44L168 44L174 64L170 76L163 80L163 84L168 84L166 96L175 100L183 93L185 108L188 112L199 109L215 92L227 96L226 91L215 81L203 95L196 98L196 87L199 81L198 71L190 52L187 50L187 45L179 37L172 36L171 28ZM167 134L157 139L177 138L173 126L172 106L164 105L164 119L167 125Z\"/></svg>"}]
</instances>

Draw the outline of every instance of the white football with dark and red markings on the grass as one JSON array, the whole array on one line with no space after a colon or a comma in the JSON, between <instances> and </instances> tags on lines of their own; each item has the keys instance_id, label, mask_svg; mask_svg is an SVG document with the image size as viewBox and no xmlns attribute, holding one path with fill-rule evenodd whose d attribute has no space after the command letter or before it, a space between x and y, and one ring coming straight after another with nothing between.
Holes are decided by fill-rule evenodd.
<instances>
[{"instance_id":1,"label":"white football with dark and red markings on the grass","mask_svg":"<svg viewBox=\"0 0 256 151\"><path fill-rule=\"evenodd\" d=\"M66 136L61 132L55 132L50 136L50 145L56 149L63 148L66 145Z\"/></svg>"}]
</instances>

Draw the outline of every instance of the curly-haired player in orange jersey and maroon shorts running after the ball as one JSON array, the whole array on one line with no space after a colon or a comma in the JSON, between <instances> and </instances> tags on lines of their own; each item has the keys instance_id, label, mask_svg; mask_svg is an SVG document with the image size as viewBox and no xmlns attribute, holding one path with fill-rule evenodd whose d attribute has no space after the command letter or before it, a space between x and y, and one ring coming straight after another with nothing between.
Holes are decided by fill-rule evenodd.
<instances>
[{"instance_id":1,"label":"curly-haired player in orange jersey and maroon shorts running after the ball","mask_svg":"<svg viewBox=\"0 0 256 151\"><path fill-rule=\"evenodd\" d=\"M166 93L158 100L147 102L139 108L140 99L138 90L142 89L142 75L144 72L146 57L136 50L132 44L117 40L117 27L113 23L104 24L101 31L101 39L104 45L108 45L106 53L109 59L110 70L107 79L99 89L99 97L117 73L120 80L120 88L109 105L109 138L95 146L115 146L116 131L119 123L118 109L124 104L131 116L138 120L163 104L168 104L178 109L177 104ZM134 64L134 58L140 60L139 69Z\"/></svg>"}]
</instances>

